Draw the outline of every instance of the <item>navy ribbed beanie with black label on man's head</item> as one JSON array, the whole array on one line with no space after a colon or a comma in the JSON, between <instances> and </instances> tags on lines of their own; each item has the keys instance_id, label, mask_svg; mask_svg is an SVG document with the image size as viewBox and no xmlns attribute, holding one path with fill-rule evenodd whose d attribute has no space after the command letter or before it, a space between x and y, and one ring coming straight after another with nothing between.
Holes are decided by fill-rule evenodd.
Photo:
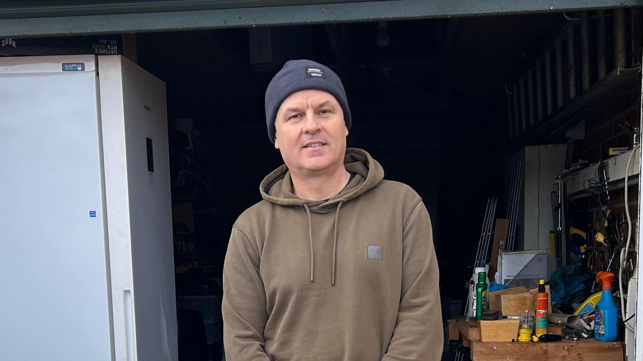
<instances>
[{"instance_id":1,"label":"navy ribbed beanie with black label on man's head","mask_svg":"<svg viewBox=\"0 0 643 361\"><path fill-rule=\"evenodd\" d=\"M275 118L285 98L293 92L317 89L329 92L340 103L346 127L350 129L349 102L340 77L329 67L312 60L289 60L266 89L266 125L268 137L275 143Z\"/></svg>"}]
</instances>

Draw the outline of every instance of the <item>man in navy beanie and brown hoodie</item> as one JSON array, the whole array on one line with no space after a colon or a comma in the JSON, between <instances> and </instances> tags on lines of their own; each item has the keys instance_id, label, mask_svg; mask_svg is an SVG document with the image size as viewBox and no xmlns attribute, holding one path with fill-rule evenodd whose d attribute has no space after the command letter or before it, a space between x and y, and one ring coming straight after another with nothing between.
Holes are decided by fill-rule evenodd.
<instances>
[{"instance_id":1,"label":"man in navy beanie and brown hoodie","mask_svg":"<svg viewBox=\"0 0 643 361\"><path fill-rule=\"evenodd\" d=\"M413 189L383 180L367 152L346 148L340 78L310 60L287 62L268 85L266 121L285 165L232 229L226 360L439 360L428 212Z\"/></svg>"}]
</instances>

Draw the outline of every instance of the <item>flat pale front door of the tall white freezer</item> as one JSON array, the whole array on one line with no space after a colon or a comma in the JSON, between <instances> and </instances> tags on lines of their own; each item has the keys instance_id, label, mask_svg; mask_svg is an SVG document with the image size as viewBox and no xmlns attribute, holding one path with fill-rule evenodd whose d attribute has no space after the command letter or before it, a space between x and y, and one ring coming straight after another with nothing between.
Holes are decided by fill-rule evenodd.
<instances>
[{"instance_id":1,"label":"flat pale front door of the tall white freezer","mask_svg":"<svg viewBox=\"0 0 643 361\"><path fill-rule=\"evenodd\" d=\"M22 61L0 58L0 358L111 360L96 76Z\"/></svg>"}]
</instances>

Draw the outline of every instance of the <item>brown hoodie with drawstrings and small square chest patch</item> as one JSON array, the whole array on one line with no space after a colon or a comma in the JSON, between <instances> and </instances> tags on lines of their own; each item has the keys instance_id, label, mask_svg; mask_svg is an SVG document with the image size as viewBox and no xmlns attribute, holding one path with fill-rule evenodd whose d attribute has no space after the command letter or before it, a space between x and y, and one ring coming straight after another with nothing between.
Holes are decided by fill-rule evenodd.
<instances>
[{"instance_id":1,"label":"brown hoodie with drawstrings and small square chest patch","mask_svg":"<svg viewBox=\"0 0 643 361\"><path fill-rule=\"evenodd\" d=\"M281 166L235 223L223 270L228 361L437 361L431 222L409 186L359 149L327 202L302 200Z\"/></svg>"}]
</instances>

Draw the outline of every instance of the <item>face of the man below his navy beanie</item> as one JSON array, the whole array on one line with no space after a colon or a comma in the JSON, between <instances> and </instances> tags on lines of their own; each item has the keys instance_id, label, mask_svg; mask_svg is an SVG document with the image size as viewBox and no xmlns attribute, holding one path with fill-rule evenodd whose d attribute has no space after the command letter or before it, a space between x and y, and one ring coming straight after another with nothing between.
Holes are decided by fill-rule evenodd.
<instances>
[{"instance_id":1,"label":"face of the man below his navy beanie","mask_svg":"<svg viewBox=\"0 0 643 361\"><path fill-rule=\"evenodd\" d=\"M275 148L289 169L320 172L343 164L349 130L334 96L320 90L294 92L275 118Z\"/></svg>"}]
</instances>

